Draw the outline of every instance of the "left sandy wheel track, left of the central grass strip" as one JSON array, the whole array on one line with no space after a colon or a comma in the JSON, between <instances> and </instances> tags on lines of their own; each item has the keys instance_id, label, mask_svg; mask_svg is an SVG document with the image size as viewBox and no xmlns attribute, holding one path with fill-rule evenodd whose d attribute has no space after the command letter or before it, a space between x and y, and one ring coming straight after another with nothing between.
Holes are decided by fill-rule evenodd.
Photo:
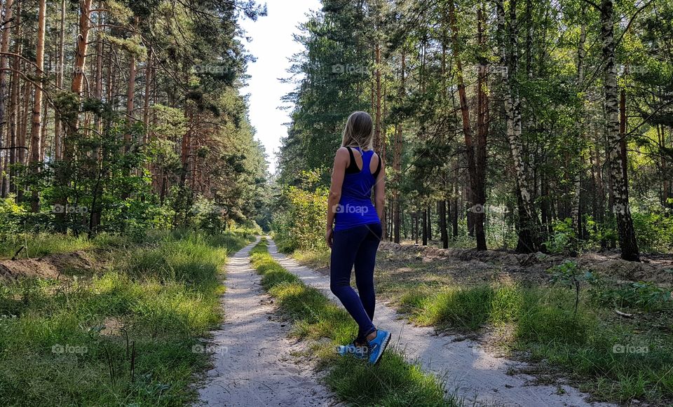
<instances>
[{"instance_id":1,"label":"left sandy wheel track, left of the central grass strip","mask_svg":"<svg viewBox=\"0 0 673 407\"><path fill-rule=\"evenodd\" d=\"M271 299L250 268L253 244L229 258L224 294L225 322L205 350L215 368L199 389L198 406L332 406L329 391L315 380L294 352L301 343L287 338L289 326L273 316Z\"/></svg>"}]
</instances>

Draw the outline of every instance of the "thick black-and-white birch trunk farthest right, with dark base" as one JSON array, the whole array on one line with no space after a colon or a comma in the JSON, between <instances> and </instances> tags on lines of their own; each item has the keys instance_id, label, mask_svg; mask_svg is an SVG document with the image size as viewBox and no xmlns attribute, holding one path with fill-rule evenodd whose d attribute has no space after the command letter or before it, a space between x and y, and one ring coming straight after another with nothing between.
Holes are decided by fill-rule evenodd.
<instances>
[{"instance_id":1,"label":"thick black-and-white birch trunk farthest right, with dark base","mask_svg":"<svg viewBox=\"0 0 673 407\"><path fill-rule=\"evenodd\" d=\"M636 234L629 208L628 179L626 161L621 145L626 137L625 124L619 121L619 102L617 96L617 74L615 67L615 37L612 0L601 1L601 42L603 46L606 137L610 154L610 173L613 191L613 212L617 220L619 245L622 258L628 261L640 261ZM625 120L623 120L625 122ZM623 130L623 131L620 131Z\"/></svg>"}]
</instances>

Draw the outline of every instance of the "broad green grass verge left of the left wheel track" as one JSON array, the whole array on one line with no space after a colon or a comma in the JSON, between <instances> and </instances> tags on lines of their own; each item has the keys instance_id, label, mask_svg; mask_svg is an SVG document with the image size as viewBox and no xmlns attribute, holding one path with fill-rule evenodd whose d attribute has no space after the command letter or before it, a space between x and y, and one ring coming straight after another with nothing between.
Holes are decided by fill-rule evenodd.
<instances>
[{"instance_id":1,"label":"broad green grass verge left of the left wheel track","mask_svg":"<svg viewBox=\"0 0 673 407\"><path fill-rule=\"evenodd\" d=\"M209 366L219 273L243 234L164 234L115 251L111 270L0 286L4 406L175 406ZM15 316L15 317L14 317Z\"/></svg>"}]
</instances>

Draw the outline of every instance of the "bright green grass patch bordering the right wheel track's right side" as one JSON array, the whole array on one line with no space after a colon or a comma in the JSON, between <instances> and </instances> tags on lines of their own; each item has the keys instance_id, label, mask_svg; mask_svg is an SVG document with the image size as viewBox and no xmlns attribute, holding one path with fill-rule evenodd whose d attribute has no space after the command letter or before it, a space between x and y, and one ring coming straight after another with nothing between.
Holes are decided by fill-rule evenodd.
<instances>
[{"instance_id":1,"label":"bright green grass patch bordering the right wheel track's right side","mask_svg":"<svg viewBox=\"0 0 673 407\"><path fill-rule=\"evenodd\" d=\"M512 339L505 345L563 368L601 399L673 398L670 335L611 323L611 310L590 298L582 298L575 315L574 301L566 289L498 284L410 291L400 298L400 308L426 326L458 331L510 326ZM634 352L613 352L619 345Z\"/></svg>"}]
</instances>

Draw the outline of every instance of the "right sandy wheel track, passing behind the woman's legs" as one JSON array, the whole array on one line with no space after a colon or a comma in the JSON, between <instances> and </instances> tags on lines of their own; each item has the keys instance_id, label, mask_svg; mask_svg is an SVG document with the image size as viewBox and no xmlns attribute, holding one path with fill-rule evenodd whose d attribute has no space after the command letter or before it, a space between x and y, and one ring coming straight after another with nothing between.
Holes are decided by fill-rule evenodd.
<instances>
[{"instance_id":1,"label":"right sandy wheel track, passing behind the woman's legs","mask_svg":"<svg viewBox=\"0 0 673 407\"><path fill-rule=\"evenodd\" d=\"M278 253L272 240L268 249L283 267L337 301L329 291L329 277ZM487 406L611 406L587 403L587 395L569 385L529 385L533 380L530 375L508 374L510 368L524 364L494 357L471 340L456 342L452 336L437 336L433 328L412 326L384 304L376 304L374 319L393 333L391 344L403 350L409 360L418 360L423 370L446 377L449 391L457 389L466 405L475 401Z\"/></svg>"}]
</instances>

